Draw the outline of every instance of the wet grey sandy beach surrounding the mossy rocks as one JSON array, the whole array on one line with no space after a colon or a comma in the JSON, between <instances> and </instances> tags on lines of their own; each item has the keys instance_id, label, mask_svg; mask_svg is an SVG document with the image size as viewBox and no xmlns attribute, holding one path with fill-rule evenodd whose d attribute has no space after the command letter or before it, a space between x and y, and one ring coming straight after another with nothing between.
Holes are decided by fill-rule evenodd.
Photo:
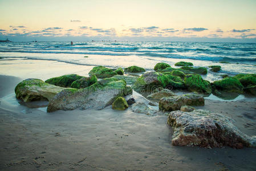
<instances>
[{"instance_id":1,"label":"wet grey sandy beach surrounding the mossy rocks","mask_svg":"<svg viewBox=\"0 0 256 171\"><path fill-rule=\"evenodd\" d=\"M2 66L1 170L254 170L256 167L254 148L173 146L172 128L166 124L168 113L150 116L134 113L131 107L115 111L111 106L97 111L47 113L46 101L24 105L15 98L14 88L23 79L45 80L70 73L86 75L92 66L41 60ZM20 67L25 69L18 71ZM136 92L132 96L145 100ZM229 116L243 133L254 136L255 104L255 97L237 101L206 99L205 106L196 108Z\"/></svg>"}]
</instances>

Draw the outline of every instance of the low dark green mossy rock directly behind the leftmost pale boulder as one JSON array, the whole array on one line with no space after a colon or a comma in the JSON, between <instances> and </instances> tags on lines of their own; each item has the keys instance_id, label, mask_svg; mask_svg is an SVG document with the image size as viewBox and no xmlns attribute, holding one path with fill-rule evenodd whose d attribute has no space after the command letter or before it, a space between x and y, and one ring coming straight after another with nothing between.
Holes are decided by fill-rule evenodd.
<instances>
[{"instance_id":1,"label":"low dark green mossy rock directly behind the leftmost pale boulder","mask_svg":"<svg viewBox=\"0 0 256 171\"><path fill-rule=\"evenodd\" d=\"M83 76L76 75L76 74L70 74L70 75L63 75L58 76L55 78L50 78L46 80L45 82L48 84L52 84L59 87L70 87L75 80L79 80L83 78Z\"/></svg>"}]
</instances>

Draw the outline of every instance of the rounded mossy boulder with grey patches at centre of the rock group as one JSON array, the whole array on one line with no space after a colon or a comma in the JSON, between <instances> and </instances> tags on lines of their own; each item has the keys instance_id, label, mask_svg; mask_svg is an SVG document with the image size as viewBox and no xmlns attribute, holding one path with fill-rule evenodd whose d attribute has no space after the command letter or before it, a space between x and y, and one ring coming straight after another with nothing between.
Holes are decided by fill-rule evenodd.
<instances>
[{"instance_id":1,"label":"rounded mossy boulder with grey patches at centre of the rock group","mask_svg":"<svg viewBox=\"0 0 256 171\"><path fill-rule=\"evenodd\" d=\"M154 89L168 85L168 78L159 72L151 71L140 76L133 85L137 92L152 92Z\"/></svg>"}]
</instances>

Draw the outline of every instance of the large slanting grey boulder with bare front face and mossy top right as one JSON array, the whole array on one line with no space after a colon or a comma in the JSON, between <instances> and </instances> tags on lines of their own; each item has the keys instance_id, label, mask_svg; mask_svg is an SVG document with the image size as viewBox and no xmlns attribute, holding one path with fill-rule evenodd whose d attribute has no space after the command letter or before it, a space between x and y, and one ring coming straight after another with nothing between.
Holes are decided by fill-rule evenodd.
<instances>
[{"instance_id":1,"label":"large slanting grey boulder with bare front face and mossy top right","mask_svg":"<svg viewBox=\"0 0 256 171\"><path fill-rule=\"evenodd\" d=\"M103 109L111 105L117 97L126 95L127 85L124 80L105 78L90 87L77 92L61 91L48 104L47 112L59 109Z\"/></svg>"}]
</instances>

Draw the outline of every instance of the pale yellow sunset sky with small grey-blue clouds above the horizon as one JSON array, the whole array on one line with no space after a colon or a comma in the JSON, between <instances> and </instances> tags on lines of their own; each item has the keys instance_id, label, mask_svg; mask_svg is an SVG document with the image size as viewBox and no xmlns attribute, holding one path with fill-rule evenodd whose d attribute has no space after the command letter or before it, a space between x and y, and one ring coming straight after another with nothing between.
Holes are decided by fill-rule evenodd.
<instances>
[{"instance_id":1,"label":"pale yellow sunset sky with small grey-blue clouds above the horizon","mask_svg":"<svg viewBox=\"0 0 256 171\"><path fill-rule=\"evenodd\" d=\"M255 0L0 0L0 39L256 43Z\"/></svg>"}]
</instances>

